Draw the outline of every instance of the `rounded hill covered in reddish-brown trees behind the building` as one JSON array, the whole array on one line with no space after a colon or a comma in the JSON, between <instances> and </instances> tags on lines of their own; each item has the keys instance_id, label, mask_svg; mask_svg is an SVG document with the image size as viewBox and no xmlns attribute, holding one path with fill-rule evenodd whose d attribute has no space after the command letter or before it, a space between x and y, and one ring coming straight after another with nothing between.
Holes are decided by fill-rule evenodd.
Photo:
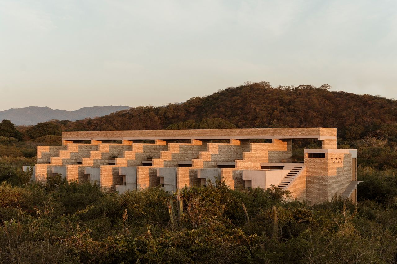
<instances>
[{"instance_id":1,"label":"rounded hill covered in reddish-brown trees behind the building","mask_svg":"<svg viewBox=\"0 0 397 264\"><path fill-rule=\"evenodd\" d=\"M186 129L195 128L205 118L221 118L227 121L221 121L221 127L336 127L338 136L354 140L380 128L384 131L394 128L396 100L331 92L329 88L328 85L273 88L268 82L247 83L181 104L135 107L96 119L69 122L64 129L153 130L172 124L171 128ZM208 128L213 126L217 124L208 124Z\"/></svg>"}]
</instances>

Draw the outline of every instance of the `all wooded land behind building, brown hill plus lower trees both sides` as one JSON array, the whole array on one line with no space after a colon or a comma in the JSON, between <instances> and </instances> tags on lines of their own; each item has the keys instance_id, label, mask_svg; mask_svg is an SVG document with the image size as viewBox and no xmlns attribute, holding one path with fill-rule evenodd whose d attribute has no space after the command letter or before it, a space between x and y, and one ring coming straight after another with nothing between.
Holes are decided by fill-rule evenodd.
<instances>
[{"instance_id":1,"label":"all wooded land behind building, brown hill plus lower trees both sides","mask_svg":"<svg viewBox=\"0 0 397 264\"><path fill-rule=\"evenodd\" d=\"M3 121L0 156L34 157L36 145L59 145L62 131L322 126L337 128L339 148L358 149L360 165L397 168L397 101L329 89L328 85L274 88L268 82L246 83L184 103L135 107L95 119L52 120L17 128ZM295 148L311 143L315 142L295 142Z\"/></svg>"}]
</instances>

